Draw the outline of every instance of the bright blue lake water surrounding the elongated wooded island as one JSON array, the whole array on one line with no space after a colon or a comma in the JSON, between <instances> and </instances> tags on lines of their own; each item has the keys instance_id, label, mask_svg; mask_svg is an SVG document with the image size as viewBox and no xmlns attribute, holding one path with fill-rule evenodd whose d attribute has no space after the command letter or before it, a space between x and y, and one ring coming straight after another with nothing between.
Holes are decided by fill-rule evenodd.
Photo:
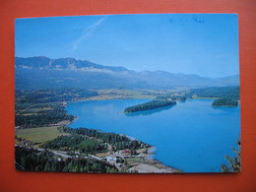
<instances>
[{"instance_id":1,"label":"bright blue lake water surrounding the elongated wooded island","mask_svg":"<svg viewBox=\"0 0 256 192\"><path fill-rule=\"evenodd\" d=\"M87 127L137 138L157 147L156 160L185 172L219 172L224 155L233 156L240 134L240 106L212 107L213 99L191 99L172 107L122 113L148 99L69 102L78 119L70 127Z\"/></svg>"}]
</instances>

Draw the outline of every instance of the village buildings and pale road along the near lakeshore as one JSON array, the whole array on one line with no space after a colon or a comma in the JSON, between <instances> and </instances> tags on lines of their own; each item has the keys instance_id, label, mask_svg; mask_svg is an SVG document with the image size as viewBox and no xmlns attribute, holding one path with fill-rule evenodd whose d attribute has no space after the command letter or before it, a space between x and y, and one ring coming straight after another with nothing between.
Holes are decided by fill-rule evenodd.
<instances>
[{"instance_id":1,"label":"village buildings and pale road along the near lakeshore","mask_svg":"<svg viewBox=\"0 0 256 192\"><path fill-rule=\"evenodd\" d=\"M118 172L131 172L131 173L173 173L180 172L180 170L168 167L158 160L154 160L156 148L149 147L136 150L135 152L129 149L119 151L108 151L106 153L89 155L83 154L78 151L65 152L55 151L49 149L39 148L34 145L31 141L23 138L16 137L15 147L22 147L25 149L32 149L40 152L51 152L54 154L56 160L67 160L67 159L95 159L104 161L110 165L115 166Z\"/></svg>"}]
</instances>

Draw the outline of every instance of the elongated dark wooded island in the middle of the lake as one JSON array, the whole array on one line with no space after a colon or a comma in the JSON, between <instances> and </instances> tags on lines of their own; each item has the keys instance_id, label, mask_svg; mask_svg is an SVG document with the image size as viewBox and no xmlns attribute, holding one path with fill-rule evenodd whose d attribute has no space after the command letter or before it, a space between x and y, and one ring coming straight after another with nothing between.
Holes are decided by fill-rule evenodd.
<instances>
[{"instance_id":1,"label":"elongated dark wooded island in the middle of the lake","mask_svg":"<svg viewBox=\"0 0 256 192\"><path fill-rule=\"evenodd\" d=\"M154 99L142 104L137 104L134 106L129 106L124 109L124 112L136 112L142 110L151 110L164 106L169 106L172 104L176 104L175 101L167 100L167 99Z\"/></svg>"}]
</instances>

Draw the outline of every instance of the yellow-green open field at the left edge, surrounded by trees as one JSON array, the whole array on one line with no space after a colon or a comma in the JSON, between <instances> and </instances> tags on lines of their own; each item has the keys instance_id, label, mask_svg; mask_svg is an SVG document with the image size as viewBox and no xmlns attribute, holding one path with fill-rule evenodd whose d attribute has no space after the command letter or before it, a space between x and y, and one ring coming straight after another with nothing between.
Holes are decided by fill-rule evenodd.
<instances>
[{"instance_id":1,"label":"yellow-green open field at the left edge, surrounded by trees","mask_svg":"<svg viewBox=\"0 0 256 192\"><path fill-rule=\"evenodd\" d=\"M52 127L38 127L28 129L16 129L16 136L18 138L26 139L32 143L45 143L53 140L60 135L68 135L63 133L59 126Z\"/></svg>"}]
</instances>

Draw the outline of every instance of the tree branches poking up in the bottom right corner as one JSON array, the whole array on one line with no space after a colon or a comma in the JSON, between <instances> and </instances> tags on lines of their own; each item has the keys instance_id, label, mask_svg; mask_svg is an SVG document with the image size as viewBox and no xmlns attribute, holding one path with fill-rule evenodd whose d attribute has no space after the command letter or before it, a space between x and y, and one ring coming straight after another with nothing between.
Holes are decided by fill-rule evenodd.
<instances>
[{"instance_id":1,"label":"tree branches poking up in the bottom right corner","mask_svg":"<svg viewBox=\"0 0 256 192\"><path fill-rule=\"evenodd\" d=\"M235 154L234 157L225 156L228 166L222 164L222 172L239 172L241 170L241 143L239 140L236 142L236 145L238 149L232 149Z\"/></svg>"}]
</instances>

